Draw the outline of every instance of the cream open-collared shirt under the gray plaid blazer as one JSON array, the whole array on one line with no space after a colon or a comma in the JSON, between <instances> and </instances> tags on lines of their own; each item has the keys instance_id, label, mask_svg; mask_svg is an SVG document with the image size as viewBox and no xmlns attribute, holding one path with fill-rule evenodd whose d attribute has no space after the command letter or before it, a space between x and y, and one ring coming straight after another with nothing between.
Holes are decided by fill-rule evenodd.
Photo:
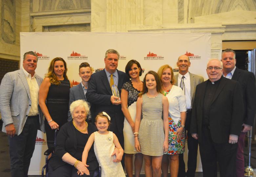
<instances>
[{"instance_id":1,"label":"cream open-collared shirt under the gray plaid blazer","mask_svg":"<svg viewBox=\"0 0 256 177\"><path fill-rule=\"evenodd\" d=\"M30 97L31 97L31 108L28 116L36 116L39 114L38 111L38 94L39 94L39 86L35 78L35 73L33 77L28 73L23 67L23 72L26 75L26 79L29 85Z\"/></svg>"}]
</instances>

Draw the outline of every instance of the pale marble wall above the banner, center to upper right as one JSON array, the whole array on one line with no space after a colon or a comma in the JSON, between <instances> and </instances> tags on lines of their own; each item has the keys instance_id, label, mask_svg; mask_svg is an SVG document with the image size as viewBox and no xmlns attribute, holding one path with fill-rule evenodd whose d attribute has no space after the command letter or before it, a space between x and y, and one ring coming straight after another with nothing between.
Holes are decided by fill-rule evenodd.
<instances>
[{"instance_id":1,"label":"pale marble wall above the banner, center to upper right","mask_svg":"<svg viewBox=\"0 0 256 177\"><path fill-rule=\"evenodd\" d=\"M210 32L212 57L222 40L256 40L255 0L92 0L91 31Z\"/></svg>"}]
</instances>

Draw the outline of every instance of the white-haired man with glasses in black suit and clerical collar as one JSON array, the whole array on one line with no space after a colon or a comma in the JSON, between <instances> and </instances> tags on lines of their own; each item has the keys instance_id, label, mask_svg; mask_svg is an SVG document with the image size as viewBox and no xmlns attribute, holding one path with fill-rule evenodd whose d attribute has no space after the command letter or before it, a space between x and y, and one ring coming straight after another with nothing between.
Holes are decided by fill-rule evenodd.
<instances>
[{"instance_id":1,"label":"white-haired man with glasses in black suit and clerical collar","mask_svg":"<svg viewBox=\"0 0 256 177\"><path fill-rule=\"evenodd\" d=\"M193 103L190 133L198 139L205 177L217 177L217 161L221 176L236 176L243 98L240 84L224 78L222 68L220 60L208 61L206 72L209 80L196 87Z\"/></svg>"}]
</instances>

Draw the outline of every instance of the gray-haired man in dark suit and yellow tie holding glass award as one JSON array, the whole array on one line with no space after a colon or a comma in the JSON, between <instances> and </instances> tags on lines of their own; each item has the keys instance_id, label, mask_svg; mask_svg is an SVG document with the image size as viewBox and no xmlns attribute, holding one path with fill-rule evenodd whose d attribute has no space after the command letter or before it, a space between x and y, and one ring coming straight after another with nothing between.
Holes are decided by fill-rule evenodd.
<instances>
[{"instance_id":1,"label":"gray-haired man in dark suit and yellow tie holding glass award","mask_svg":"<svg viewBox=\"0 0 256 177\"><path fill-rule=\"evenodd\" d=\"M104 58L105 69L92 74L86 98L92 104L92 122L95 121L95 116L99 112L106 111L111 117L109 130L117 135L122 148L124 148L124 115L121 110L121 101L120 98L112 95L110 86L115 84L121 94L122 85L129 80L124 72L117 70L118 59L119 53L116 50L109 49L106 51Z\"/></svg>"}]
</instances>

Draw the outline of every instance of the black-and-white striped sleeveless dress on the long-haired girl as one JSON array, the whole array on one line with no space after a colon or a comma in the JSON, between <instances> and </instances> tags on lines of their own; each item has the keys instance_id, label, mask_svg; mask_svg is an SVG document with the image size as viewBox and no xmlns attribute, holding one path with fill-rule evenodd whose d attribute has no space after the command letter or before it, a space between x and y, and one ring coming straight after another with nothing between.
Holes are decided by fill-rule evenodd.
<instances>
[{"instance_id":1,"label":"black-and-white striped sleeveless dress on the long-haired girl","mask_svg":"<svg viewBox=\"0 0 256 177\"><path fill-rule=\"evenodd\" d=\"M139 125L139 145L142 154L151 156L163 155L163 95L158 93L150 98L142 95L142 119Z\"/></svg>"}]
</instances>

